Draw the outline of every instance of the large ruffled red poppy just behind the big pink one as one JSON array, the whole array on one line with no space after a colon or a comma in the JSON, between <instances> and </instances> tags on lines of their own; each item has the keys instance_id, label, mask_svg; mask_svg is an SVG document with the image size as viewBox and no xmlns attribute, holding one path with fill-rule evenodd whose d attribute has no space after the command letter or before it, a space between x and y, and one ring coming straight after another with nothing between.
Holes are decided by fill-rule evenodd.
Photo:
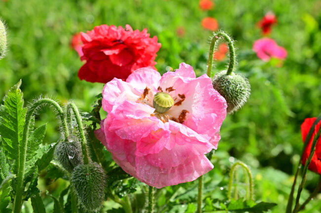
<instances>
[{"instance_id":1,"label":"large ruffled red poppy just behind the big pink one","mask_svg":"<svg viewBox=\"0 0 321 213\"><path fill-rule=\"evenodd\" d=\"M150 37L147 29L140 32L129 25L125 29L100 25L80 34L83 43L80 59L86 61L78 72L80 80L106 83L114 77L126 80L138 68L155 69L154 60L161 44L156 36Z\"/></svg>"}]
</instances>

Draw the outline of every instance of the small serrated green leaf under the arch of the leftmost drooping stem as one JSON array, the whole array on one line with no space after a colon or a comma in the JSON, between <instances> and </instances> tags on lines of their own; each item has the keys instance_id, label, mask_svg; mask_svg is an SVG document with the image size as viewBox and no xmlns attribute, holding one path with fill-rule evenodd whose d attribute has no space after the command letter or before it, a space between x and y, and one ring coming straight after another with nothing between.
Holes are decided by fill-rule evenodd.
<instances>
[{"instance_id":1,"label":"small serrated green leaf under the arch of the leftmost drooping stem","mask_svg":"<svg viewBox=\"0 0 321 213\"><path fill-rule=\"evenodd\" d=\"M31 127L29 128L30 133L28 135L27 161L31 160L35 156L36 152L38 152L46 129L47 124L43 124L35 130Z\"/></svg>"}]
</instances>

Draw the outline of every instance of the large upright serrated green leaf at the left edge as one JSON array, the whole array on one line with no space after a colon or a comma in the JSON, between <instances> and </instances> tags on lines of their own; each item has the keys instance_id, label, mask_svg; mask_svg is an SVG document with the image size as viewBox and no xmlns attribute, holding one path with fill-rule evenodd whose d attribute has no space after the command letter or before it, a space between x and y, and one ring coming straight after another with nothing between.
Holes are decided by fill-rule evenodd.
<instances>
[{"instance_id":1,"label":"large upright serrated green leaf at the left edge","mask_svg":"<svg viewBox=\"0 0 321 213\"><path fill-rule=\"evenodd\" d=\"M27 109L23 107L21 80L11 87L0 106L0 135L4 151L10 159L18 159L19 144L25 125Z\"/></svg>"}]
</instances>

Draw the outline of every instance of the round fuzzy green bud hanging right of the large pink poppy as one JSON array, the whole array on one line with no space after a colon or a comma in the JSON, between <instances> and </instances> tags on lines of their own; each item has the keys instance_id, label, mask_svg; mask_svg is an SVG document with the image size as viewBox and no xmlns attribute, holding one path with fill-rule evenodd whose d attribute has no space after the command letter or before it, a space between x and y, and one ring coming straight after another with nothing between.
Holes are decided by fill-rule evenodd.
<instances>
[{"instance_id":1,"label":"round fuzzy green bud hanging right of the large pink poppy","mask_svg":"<svg viewBox=\"0 0 321 213\"><path fill-rule=\"evenodd\" d=\"M232 72L220 71L213 78L213 88L223 96L227 103L227 112L239 110L250 96L251 86L244 76Z\"/></svg>"}]
</instances>

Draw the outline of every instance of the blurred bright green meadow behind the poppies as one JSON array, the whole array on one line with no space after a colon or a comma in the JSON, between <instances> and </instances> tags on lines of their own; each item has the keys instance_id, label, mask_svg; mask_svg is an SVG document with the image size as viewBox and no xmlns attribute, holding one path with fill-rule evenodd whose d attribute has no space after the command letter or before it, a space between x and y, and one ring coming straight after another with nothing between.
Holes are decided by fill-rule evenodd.
<instances>
[{"instance_id":1,"label":"blurred bright green meadow behind the poppies","mask_svg":"<svg viewBox=\"0 0 321 213\"><path fill-rule=\"evenodd\" d=\"M212 10L203 11L199 0L0 0L9 42L7 57L0 60L0 97L22 79L26 102L47 95L62 104L72 99L81 110L91 110L103 84L79 80L83 63L70 42L74 34L101 24L147 28L161 43L158 71L185 62L201 75L212 35L201 20L213 17L219 29L236 40L237 71L249 78L252 93L248 103L223 122L212 159L215 168L205 176L206 203L226 196L230 166L241 160L252 169L256 200L275 202L273 212L284 212L303 146L300 125L321 112L321 0L214 3ZM252 51L253 42L263 37L257 22L269 11L278 23L268 36L288 53L281 64L274 59L263 62ZM226 63L217 62L214 71L225 69ZM38 122L49 122L45 141L57 141L54 116L47 110L40 117ZM308 173L303 199L318 179L319 175ZM43 183L47 189L59 187L50 184ZM166 206L167 212L185 212L194 208L195 199L195 183L180 184L161 191L157 205L160 210ZM320 196L307 209L305 213L319 213Z\"/></svg>"}]
</instances>

